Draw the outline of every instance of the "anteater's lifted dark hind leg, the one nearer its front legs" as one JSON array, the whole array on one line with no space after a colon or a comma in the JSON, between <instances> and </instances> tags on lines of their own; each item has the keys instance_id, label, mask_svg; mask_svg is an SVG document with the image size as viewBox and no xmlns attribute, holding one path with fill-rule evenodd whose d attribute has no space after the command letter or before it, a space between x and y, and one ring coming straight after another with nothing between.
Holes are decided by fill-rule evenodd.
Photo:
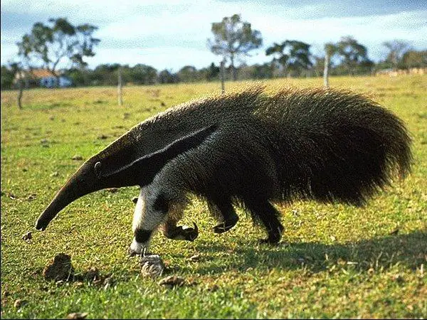
<instances>
[{"instance_id":1,"label":"anteater's lifted dark hind leg, the one nearer its front legs","mask_svg":"<svg viewBox=\"0 0 427 320\"><path fill-rule=\"evenodd\" d=\"M231 205L229 198L208 201L209 212L216 218L218 225L214 227L214 233L225 233L238 222L238 215Z\"/></svg>"}]
</instances>

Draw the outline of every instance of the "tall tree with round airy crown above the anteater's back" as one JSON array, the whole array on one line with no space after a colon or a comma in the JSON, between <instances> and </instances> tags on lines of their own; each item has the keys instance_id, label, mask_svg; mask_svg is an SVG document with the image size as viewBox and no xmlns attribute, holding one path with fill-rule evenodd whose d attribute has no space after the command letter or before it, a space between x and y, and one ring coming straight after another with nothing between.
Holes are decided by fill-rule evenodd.
<instances>
[{"instance_id":1,"label":"tall tree with round airy crown above the anteater's back","mask_svg":"<svg viewBox=\"0 0 427 320\"><path fill-rule=\"evenodd\" d=\"M252 30L251 23L241 21L238 14L224 17L221 22L212 23L211 31L214 33L214 39L208 39L209 48L214 54L230 60L233 80L236 80L234 60L262 46L263 38L260 31Z\"/></svg>"}]
</instances>

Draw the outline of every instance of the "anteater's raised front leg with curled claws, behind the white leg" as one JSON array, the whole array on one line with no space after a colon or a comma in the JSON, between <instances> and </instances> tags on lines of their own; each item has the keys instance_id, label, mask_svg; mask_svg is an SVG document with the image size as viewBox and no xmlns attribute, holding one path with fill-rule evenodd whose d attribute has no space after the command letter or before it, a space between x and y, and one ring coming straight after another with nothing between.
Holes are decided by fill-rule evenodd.
<instances>
[{"instance_id":1,"label":"anteater's raised front leg with curled claws, behind the white leg","mask_svg":"<svg viewBox=\"0 0 427 320\"><path fill-rule=\"evenodd\" d=\"M188 240L194 241L199 235L199 230L196 223L194 228L189 228L186 225L176 225L184 215L184 209L186 207L186 201L184 199L174 201L169 206L169 213L167 220L162 224L162 233L166 238L174 240Z\"/></svg>"}]
</instances>

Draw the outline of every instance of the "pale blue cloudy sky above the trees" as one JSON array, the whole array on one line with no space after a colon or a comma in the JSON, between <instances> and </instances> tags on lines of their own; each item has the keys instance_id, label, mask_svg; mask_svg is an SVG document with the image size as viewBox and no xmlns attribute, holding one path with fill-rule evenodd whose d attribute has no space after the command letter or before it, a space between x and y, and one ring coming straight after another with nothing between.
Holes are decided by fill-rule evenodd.
<instances>
[{"instance_id":1,"label":"pale blue cloudy sky above the trees","mask_svg":"<svg viewBox=\"0 0 427 320\"><path fill-rule=\"evenodd\" d=\"M98 27L95 37L101 42L86 59L90 68L100 63L143 63L173 72L184 65L204 68L221 60L207 46L211 23L233 14L263 36L263 47L245 58L248 64L270 61L265 49L285 40L304 41L312 53L324 55L325 43L353 36L375 61L386 56L384 41L427 49L427 0L2 0L1 65L14 59L16 42L33 23L64 17L73 25Z\"/></svg>"}]
</instances>

